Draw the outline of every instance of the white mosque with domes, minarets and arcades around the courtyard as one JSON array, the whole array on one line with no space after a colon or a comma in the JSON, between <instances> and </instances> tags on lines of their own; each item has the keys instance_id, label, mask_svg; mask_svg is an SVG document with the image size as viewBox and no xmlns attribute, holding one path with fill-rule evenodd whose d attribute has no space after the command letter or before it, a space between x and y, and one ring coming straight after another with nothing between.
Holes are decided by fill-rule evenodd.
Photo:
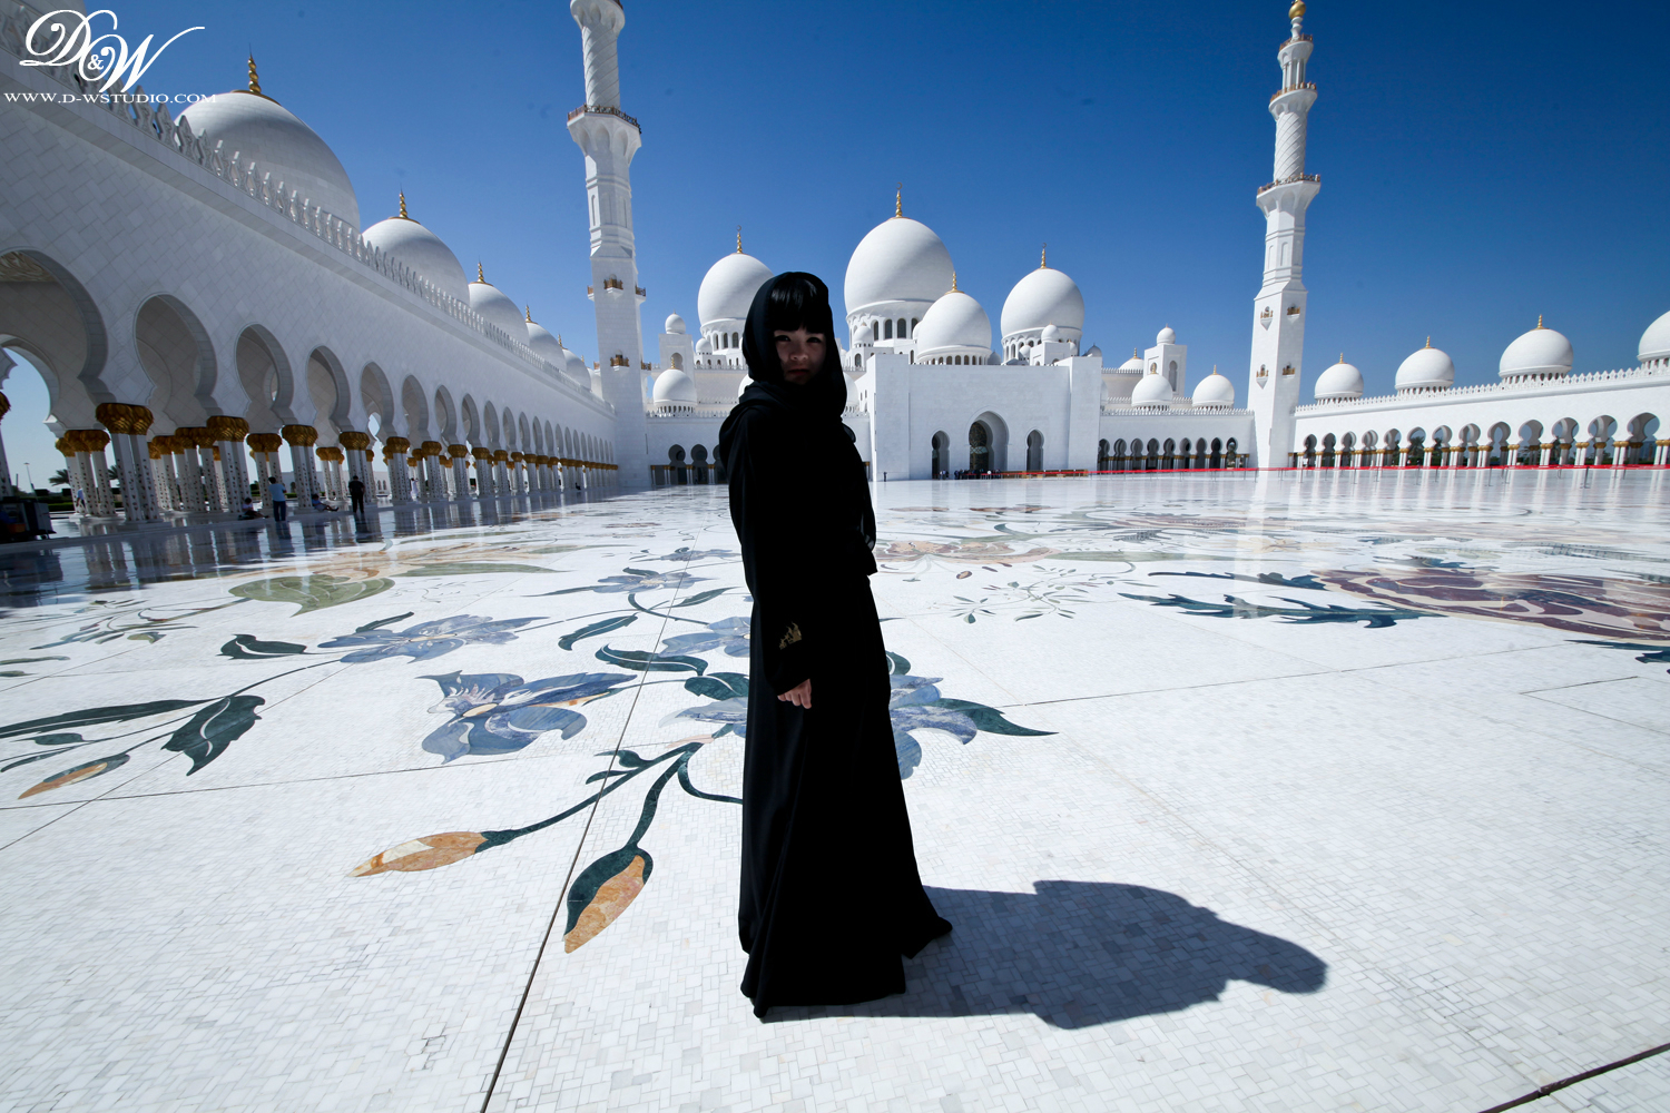
<instances>
[{"instance_id":1,"label":"white mosque with domes, minarets and arcades around the courtyard","mask_svg":"<svg viewBox=\"0 0 1670 1113\"><path fill-rule=\"evenodd\" d=\"M0 352L47 380L85 516L117 512L107 446L129 521L232 512L252 471L337 497L359 476L396 504L723 477L713 446L746 379L743 319L773 270L738 237L701 280L698 327L668 317L648 359L630 185L641 130L621 108L618 0L569 3L584 60L568 127L591 224L590 365L486 267L469 280L404 197L362 227L341 162L262 92L254 62L247 88L179 117L70 102L57 93L100 75L23 67L40 53L40 13L13 0L0 12L0 92L35 93L0 100ZM1363 397L1341 359L1301 404L1304 214L1321 189L1306 172L1318 93L1303 17L1294 3L1269 102L1273 180L1254 197L1266 260L1244 397L1216 369L1191 389L1171 327L1116 365L1080 350L1084 297L1047 255L1009 292L994 337L947 245L898 197L843 285L845 421L873 479L1667 464L1670 314L1642 335L1637 367L1573 374L1570 342L1538 322L1503 352L1498 384L1455 387L1428 344L1394 395ZM117 195L124 205L105 204ZM0 355L0 379L10 365Z\"/></svg>"}]
</instances>

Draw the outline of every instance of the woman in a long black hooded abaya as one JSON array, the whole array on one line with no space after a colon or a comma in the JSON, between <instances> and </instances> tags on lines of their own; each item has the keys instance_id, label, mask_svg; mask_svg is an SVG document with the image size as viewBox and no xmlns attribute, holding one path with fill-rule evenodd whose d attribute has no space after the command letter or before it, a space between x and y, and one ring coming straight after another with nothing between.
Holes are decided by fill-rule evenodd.
<instances>
[{"instance_id":1,"label":"woman in a long black hooded abaya","mask_svg":"<svg viewBox=\"0 0 1670 1113\"><path fill-rule=\"evenodd\" d=\"M782 274L748 310L753 382L720 432L753 592L741 906L757 1016L902 993L900 956L950 931L922 891L898 781L875 514L840 415L828 287Z\"/></svg>"}]
</instances>

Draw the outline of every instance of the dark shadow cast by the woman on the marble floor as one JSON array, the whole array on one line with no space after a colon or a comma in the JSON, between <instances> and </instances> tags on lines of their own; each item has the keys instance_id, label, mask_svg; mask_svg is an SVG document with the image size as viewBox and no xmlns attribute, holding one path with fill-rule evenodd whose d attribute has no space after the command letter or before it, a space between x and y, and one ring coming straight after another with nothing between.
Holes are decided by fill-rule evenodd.
<instances>
[{"instance_id":1,"label":"dark shadow cast by the woman on the marble floor","mask_svg":"<svg viewBox=\"0 0 1670 1113\"><path fill-rule=\"evenodd\" d=\"M1316 993L1328 963L1303 946L1217 918L1161 889L1035 881L1034 893L935 889L955 931L905 963L905 993L852 1006L773 1008L807 1016L1034 1013L1089 1028L1216 1001L1231 980Z\"/></svg>"}]
</instances>

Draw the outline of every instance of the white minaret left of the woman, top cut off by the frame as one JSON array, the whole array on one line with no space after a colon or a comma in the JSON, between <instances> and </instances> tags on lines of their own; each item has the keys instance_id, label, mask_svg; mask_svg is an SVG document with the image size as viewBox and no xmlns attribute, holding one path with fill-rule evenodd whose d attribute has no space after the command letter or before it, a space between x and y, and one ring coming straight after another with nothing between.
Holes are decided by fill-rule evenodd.
<instances>
[{"instance_id":1,"label":"white minaret left of the woman, top cut off by the frame","mask_svg":"<svg viewBox=\"0 0 1670 1113\"><path fill-rule=\"evenodd\" d=\"M586 154L591 214L591 300L598 314L603 397L615 407L615 461L623 487L650 482L645 446L643 327L638 252L631 234L631 159L643 145L638 120L621 112L615 40L626 25L618 0L569 0L586 58L586 103L568 113L568 133Z\"/></svg>"}]
</instances>

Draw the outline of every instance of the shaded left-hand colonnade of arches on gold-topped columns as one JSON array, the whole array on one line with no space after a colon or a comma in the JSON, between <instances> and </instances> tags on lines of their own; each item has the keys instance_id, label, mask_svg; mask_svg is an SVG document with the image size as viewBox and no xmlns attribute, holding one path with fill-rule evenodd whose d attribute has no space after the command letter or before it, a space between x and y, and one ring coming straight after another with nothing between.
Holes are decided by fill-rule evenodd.
<instances>
[{"instance_id":1,"label":"shaded left-hand colonnade of arches on gold-topped columns","mask_svg":"<svg viewBox=\"0 0 1670 1113\"><path fill-rule=\"evenodd\" d=\"M324 337L281 339L261 320L210 327L172 292L110 312L32 249L0 250L0 349L40 370L43 417L85 517L237 512L252 484L266 491L276 476L302 511L314 494L346 506L354 477L396 504L615 481L608 437L521 404L514 389L491 397L479 372L391 372L374 357L342 359ZM0 395L0 415L7 409Z\"/></svg>"}]
</instances>

